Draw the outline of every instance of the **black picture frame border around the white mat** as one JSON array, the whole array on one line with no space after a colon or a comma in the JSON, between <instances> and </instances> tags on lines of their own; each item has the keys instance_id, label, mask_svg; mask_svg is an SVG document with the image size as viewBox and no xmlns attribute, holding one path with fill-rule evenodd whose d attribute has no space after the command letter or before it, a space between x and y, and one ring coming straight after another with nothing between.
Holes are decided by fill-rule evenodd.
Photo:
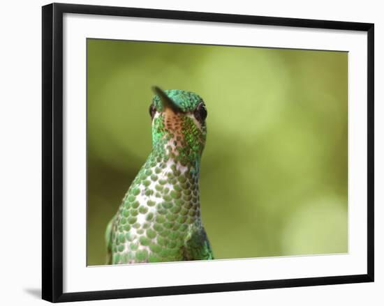
<instances>
[{"instance_id":1,"label":"black picture frame border around the white mat","mask_svg":"<svg viewBox=\"0 0 384 306\"><path fill-rule=\"evenodd\" d=\"M374 24L52 3L43 6L43 270L42 297L50 302L167 296L296 286L374 282ZM64 13L295 26L367 32L367 274L63 293L63 15Z\"/></svg>"}]
</instances>

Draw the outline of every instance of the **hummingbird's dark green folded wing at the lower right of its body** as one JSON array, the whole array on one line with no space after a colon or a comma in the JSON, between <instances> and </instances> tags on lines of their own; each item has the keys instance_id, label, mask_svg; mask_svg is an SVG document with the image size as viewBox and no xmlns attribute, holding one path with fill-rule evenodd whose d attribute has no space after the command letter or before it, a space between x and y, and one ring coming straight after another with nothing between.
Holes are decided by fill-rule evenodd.
<instances>
[{"instance_id":1,"label":"hummingbird's dark green folded wing at the lower right of its body","mask_svg":"<svg viewBox=\"0 0 384 306\"><path fill-rule=\"evenodd\" d=\"M212 247L209 243L204 227L192 229L185 242L185 260L214 259Z\"/></svg>"}]
</instances>

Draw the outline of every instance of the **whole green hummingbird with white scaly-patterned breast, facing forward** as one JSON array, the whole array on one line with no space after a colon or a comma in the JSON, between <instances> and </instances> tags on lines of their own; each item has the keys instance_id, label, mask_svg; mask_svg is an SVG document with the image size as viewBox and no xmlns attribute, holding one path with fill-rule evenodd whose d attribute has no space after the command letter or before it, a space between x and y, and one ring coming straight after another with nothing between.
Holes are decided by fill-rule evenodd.
<instances>
[{"instance_id":1,"label":"whole green hummingbird with white scaly-patterned breast, facing forward","mask_svg":"<svg viewBox=\"0 0 384 306\"><path fill-rule=\"evenodd\" d=\"M205 102L190 91L153 90L152 151L108 223L107 264L214 259L200 217Z\"/></svg>"}]
</instances>

